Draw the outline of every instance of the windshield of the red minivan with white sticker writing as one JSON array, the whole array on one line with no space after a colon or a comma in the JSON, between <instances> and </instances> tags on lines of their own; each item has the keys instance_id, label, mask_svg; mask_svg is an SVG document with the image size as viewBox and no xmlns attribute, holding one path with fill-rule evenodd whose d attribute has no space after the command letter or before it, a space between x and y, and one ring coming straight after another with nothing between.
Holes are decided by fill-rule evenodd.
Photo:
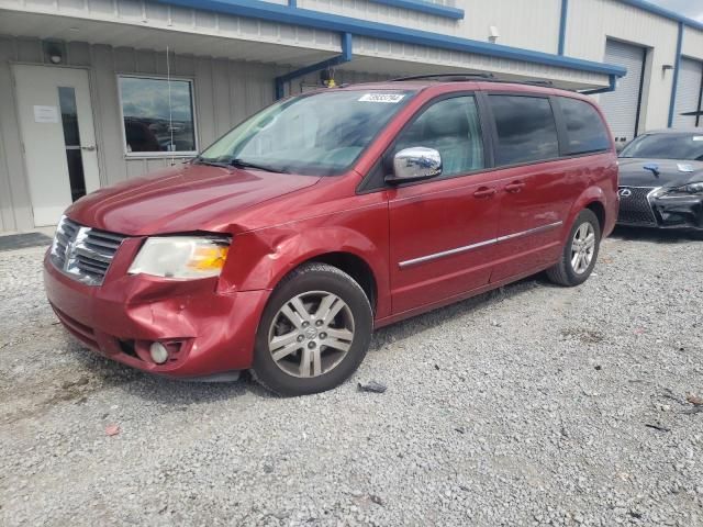
<instances>
[{"instance_id":1,"label":"windshield of the red minivan with white sticker writing","mask_svg":"<svg viewBox=\"0 0 703 527\"><path fill-rule=\"evenodd\" d=\"M288 99L230 131L198 160L312 176L342 173L411 96L335 90Z\"/></svg>"}]
</instances>

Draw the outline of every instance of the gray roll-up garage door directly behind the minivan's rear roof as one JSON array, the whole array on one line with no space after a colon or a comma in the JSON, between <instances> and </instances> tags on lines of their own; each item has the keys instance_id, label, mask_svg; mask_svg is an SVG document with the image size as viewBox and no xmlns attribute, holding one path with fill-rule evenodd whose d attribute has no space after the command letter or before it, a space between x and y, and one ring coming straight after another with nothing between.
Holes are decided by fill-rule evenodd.
<instances>
[{"instance_id":1,"label":"gray roll-up garage door directly behind the minivan's rear roof","mask_svg":"<svg viewBox=\"0 0 703 527\"><path fill-rule=\"evenodd\" d=\"M617 80L615 91L602 93L601 108L618 142L637 135L637 114L641 101L641 75L646 48L609 40L605 43L605 63L627 68L627 75Z\"/></svg>"}]
</instances>

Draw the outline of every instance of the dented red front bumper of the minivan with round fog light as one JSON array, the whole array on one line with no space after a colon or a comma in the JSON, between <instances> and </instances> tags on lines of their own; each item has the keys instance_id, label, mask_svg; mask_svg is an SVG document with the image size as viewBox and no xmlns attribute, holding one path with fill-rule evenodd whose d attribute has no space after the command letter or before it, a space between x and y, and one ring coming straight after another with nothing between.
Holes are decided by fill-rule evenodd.
<instances>
[{"instance_id":1,"label":"dented red front bumper of the minivan with round fog light","mask_svg":"<svg viewBox=\"0 0 703 527\"><path fill-rule=\"evenodd\" d=\"M269 292L219 292L215 278L129 276L137 248L123 244L100 287L71 279L45 257L46 295L66 329L101 355L152 373L207 378L249 368ZM149 357L154 341L169 350L164 365Z\"/></svg>"}]
</instances>

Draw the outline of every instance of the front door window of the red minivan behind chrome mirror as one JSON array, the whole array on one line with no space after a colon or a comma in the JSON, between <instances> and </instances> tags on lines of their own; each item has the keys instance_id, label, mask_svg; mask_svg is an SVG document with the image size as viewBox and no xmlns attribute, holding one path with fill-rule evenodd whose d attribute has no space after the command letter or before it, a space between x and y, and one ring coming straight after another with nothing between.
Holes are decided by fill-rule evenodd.
<instances>
[{"instance_id":1,"label":"front door window of the red minivan behind chrome mirror","mask_svg":"<svg viewBox=\"0 0 703 527\"><path fill-rule=\"evenodd\" d=\"M414 146L434 148L439 153L443 176L483 168L483 143L476 99L445 99L425 110L398 137L394 152Z\"/></svg>"}]
</instances>

